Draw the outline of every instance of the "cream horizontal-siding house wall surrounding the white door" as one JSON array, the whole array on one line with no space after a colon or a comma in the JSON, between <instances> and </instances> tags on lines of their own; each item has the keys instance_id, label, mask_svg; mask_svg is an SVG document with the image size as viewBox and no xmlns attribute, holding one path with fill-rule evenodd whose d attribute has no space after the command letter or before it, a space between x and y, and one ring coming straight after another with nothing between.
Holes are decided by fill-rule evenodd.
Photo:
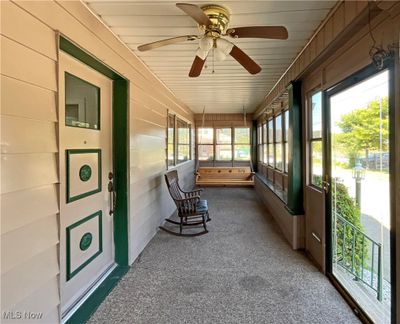
<instances>
[{"instance_id":1,"label":"cream horizontal-siding house wall surrounding the white door","mask_svg":"<svg viewBox=\"0 0 400 324\"><path fill-rule=\"evenodd\" d=\"M192 112L79 1L1 2L1 314L59 318L57 32L130 81L130 262L174 211L167 109ZM194 162L177 167L185 187ZM35 321L40 322L40 321Z\"/></svg>"}]
</instances>

